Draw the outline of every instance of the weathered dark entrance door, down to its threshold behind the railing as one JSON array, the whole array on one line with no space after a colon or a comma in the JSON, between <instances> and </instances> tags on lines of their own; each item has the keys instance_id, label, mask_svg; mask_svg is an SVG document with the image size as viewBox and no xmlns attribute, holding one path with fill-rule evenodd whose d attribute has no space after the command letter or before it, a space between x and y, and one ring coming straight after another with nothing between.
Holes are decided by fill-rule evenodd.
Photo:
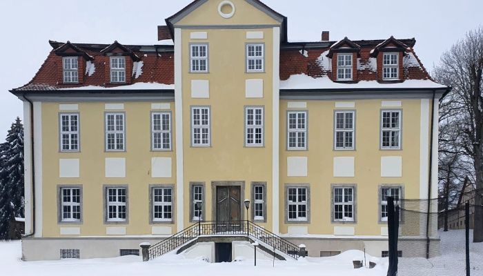
<instances>
[{"instance_id":1,"label":"weathered dark entrance door, down to its threshold behind the railing","mask_svg":"<svg viewBox=\"0 0 483 276\"><path fill-rule=\"evenodd\" d=\"M217 186L218 231L239 230L239 224L233 224L233 221L242 219L240 193L240 186Z\"/></svg>"}]
</instances>

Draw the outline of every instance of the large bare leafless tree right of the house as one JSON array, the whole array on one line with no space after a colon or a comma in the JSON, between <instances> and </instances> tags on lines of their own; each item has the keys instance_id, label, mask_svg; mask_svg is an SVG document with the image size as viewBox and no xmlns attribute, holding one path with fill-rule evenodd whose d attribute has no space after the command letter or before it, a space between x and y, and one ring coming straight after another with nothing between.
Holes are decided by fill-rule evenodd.
<instances>
[{"instance_id":1,"label":"large bare leafless tree right of the house","mask_svg":"<svg viewBox=\"0 0 483 276\"><path fill-rule=\"evenodd\" d=\"M462 141L462 153L469 157L475 172L477 189L483 188L483 28L466 33L441 57L435 68L435 77L441 83L453 87L450 92L451 117L457 120L457 133ZM450 108L451 109L451 108ZM468 161L468 160L466 160ZM483 205L480 193L475 195L475 205ZM483 208L475 208L473 242L483 242Z\"/></svg>"}]
</instances>

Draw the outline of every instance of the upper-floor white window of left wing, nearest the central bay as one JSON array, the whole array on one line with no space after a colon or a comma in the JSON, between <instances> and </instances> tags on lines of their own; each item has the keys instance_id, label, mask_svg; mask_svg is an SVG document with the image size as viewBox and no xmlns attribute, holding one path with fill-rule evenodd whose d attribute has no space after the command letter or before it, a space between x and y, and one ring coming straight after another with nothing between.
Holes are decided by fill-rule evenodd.
<instances>
[{"instance_id":1,"label":"upper-floor white window of left wing, nearest the central bay","mask_svg":"<svg viewBox=\"0 0 483 276\"><path fill-rule=\"evenodd\" d=\"M151 114L152 150L171 150L171 113Z\"/></svg>"}]
</instances>

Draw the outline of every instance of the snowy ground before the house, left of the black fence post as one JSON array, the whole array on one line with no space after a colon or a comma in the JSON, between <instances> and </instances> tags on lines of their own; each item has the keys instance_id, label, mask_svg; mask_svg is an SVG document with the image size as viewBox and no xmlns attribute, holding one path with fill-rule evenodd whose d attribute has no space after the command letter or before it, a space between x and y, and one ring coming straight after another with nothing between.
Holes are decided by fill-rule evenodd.
<instances>
[{"instance_id":1,"label":"snowy ground before the house, left of the black fence post","mask_svg":"<svg viewBox=\"0 0 483 276\"><path fill-rule=\"evenodd\" d=\"M0 242L1 275L337 275L382 276L386 275L387 258L375 268L354 269L352 259L364 257L360 251L348 251L335 257L306 258L301 261L258 261L208 264L197 259L185 259L182 255L168 254L150 262L141 262L137 256L110 259L66 259L61 261L22 262L20 242ZM367 262L371 259L367 257ZM377 260L377 258L373 258Z\"/></svg>"}]
</instances>

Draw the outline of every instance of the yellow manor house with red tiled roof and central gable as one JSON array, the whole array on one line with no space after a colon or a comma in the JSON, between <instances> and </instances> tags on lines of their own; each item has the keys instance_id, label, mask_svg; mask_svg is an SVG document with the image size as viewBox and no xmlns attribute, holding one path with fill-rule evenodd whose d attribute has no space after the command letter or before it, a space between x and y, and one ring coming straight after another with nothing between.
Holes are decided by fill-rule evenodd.
<instances>
[{"instance_id":1,"label":"yellow manor house with red tiled roof and central gable","mask_svg":"<svg viewBox=\"0 0 483 276\"><path fill-rule=\"evenodd\" d=\"M139 255L146 242L151 258L209 262L251 256L249 242L278 259L386 255L387 197L437 197L450 88L415 39L321 38L290 41L258 0L196 0L153 45L49 41L10 91L24 104L23 259ZM415 240L404 257L426 252Z\"/></svg>"}]
</instances>

